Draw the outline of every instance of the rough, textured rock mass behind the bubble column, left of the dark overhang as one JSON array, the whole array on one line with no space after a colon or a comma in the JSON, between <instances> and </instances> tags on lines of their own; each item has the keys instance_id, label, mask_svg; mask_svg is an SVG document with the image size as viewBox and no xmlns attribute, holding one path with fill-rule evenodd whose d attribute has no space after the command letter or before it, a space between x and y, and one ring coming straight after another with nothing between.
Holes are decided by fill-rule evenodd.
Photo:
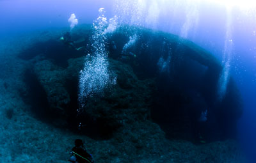
<instances>
[{"instance_id":1,"label":"rough, textured rock mass behind the bubble column, left of the dark overhang","mask_svg":"<svg viewBox=\"0 0 256 163\"><path fill-rule=\"evenodd\" d=\"M67 68L56 66L45 59L37 61L33 66L38 84L45 91L50 110L48 112L61 116L76 127L78 123L93 123L97 125L96 129L100 128L97 132L104 136L126 123L145 121L150 117L150 95L154 90L154 79L141 81L134 75L131 66L113 59L109 59L109 68L118 75L115 88L105 90L104 97L89 98L84 113L77 116L77 81L84 58L69 59L67 62Z\"/></svg>"}]
</instances>

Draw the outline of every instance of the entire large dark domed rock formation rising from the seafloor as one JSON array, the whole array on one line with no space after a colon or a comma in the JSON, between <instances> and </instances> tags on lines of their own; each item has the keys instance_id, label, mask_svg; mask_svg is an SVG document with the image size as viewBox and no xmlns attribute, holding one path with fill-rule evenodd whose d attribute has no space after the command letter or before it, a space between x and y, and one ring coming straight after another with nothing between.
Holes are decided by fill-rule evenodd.
<instances>
[{"instance_id":1,"label":"entire large dark domed rock formation rising from the seafloor","mask_svg":"<svg viewBox=\"0 0 256 163\"><path fill-rule=\"evenodd\" d=\"M85 26L84 30L72 31L74 41L81 39L81 33L87 36L81 45L88 44L92 35L89 29ZM107 37L109 70L117 75L117 84L104 95L86 98L79 114L79 72L85 61L83 55L90 53L92 45L86 45L84 52L70 47L63 51L63 45L51 41L56 49L50 43L51 50L24 51L27 57L20 58L33 63L30 75L44 92L47 113L79 132L105 139L124 135L132 125L143 127L152 121L170 139L195 141L204 137L204 141L217 141L235 135L242 114L239 91L230 79L226 97L218 101L222 66L209 52L178 36L136 27L119 27ZM57 54L60 60L54 56ZM36 94L32 89L31 93ZM198 121L205 109L207 121Z\"/></svg>"}]
</instances>

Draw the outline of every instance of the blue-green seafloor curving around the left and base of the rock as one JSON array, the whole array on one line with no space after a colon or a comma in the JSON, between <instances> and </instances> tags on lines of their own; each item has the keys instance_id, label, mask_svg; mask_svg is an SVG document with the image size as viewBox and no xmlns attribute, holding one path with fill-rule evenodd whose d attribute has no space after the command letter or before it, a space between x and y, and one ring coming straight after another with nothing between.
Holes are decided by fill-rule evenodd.
<instances>
[{"instance_id":1,"label":"blue-green seafloor curving around the left and base of the rock","mask_svg":"<svg viewBox=\"0 0 256 163\"><path fill-rule=\"evenodd\" d=\"M129 150L129 140L94 140L38 120L20 97L28 61L17 57L33 42L59 38L68 29L51 29L0 40L0 160L1 162L68 162L74 140L81 138L95 162L241 162L234 140L195 145L184 140L160 139L158 147ZM158 125L156 125L156 128ZM158 127L159 128L159 127ZM160 128L159 128L160 130ZM122 139L122 137L120 138ZM143 139L141 137L141 139ZM161 151L159 151L159 146Z\"/></svg>"}]
</instances>

